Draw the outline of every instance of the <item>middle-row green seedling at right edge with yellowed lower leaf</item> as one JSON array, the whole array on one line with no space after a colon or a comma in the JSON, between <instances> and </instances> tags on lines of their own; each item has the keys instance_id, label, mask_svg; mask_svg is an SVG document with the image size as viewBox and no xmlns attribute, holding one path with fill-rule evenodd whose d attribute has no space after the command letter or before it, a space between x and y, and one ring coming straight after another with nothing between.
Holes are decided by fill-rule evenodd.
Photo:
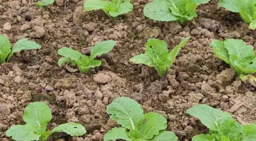
<instances>
[{"instance_id":1,"label":"middle-row green seedling at right edge with yellowed lower leaf","mask_svg":"<svg viewBox=\"0 0 256 141\"><path fill-rule=\"evenodd\" d=\"M218 58L234 67L236 76L256 86L256 78L248 75L248 73L256 72L256 56L251 45L245 45L243 40L226 39L224 42L213 40L210 47L213 47L213 53Z\"/></svg>"}]
</instances>

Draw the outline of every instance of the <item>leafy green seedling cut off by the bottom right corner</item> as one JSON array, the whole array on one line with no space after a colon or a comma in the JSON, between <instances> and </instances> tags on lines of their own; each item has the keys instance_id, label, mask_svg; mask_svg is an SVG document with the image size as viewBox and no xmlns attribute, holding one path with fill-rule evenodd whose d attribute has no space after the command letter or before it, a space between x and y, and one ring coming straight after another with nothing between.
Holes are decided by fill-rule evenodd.
<instances>
[{"instance_id":1,"label":"leafy green seedling cut off by the bottom right corner","mask_svg":"<svg viewBox=\"0 0 256 141\"><path fill-rule=\"evenodd\" d=\"M241 125L228 112L200 104L187 113L210 129L209 134L194 136L192 141L256 141L256 124Z\"/></svg>"}]
</instances>

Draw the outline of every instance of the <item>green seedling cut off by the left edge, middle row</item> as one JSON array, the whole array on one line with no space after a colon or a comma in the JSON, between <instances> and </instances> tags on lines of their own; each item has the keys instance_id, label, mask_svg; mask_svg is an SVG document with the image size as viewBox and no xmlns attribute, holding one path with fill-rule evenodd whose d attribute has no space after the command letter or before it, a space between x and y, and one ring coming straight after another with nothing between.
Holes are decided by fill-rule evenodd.
<instances>
[{"instance_id":1,"label":"green seedling cut off by the left edge, middle row","mask_svg":"<svg viewBox=\"0 0 256 141\"><path fill-rule=\"evenodd\" d=\"M28 38L24 38L20 39L13 47L11 47L9 39L0 34L0 64L9 61L15 52L31 49L41 49L41 45L36 42L29 41Z\"/></svg>"}]
</instances>

